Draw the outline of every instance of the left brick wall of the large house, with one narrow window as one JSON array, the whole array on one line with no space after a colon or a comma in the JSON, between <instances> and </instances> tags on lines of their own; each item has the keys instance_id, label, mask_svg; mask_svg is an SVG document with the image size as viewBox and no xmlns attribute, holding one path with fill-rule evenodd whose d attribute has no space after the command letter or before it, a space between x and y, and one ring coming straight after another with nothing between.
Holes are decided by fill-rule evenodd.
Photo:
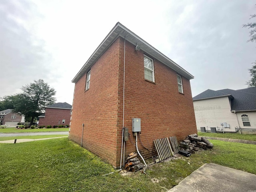
<instances>
[{"instance_id":1,"label":"left brick wall of the large house, with one narrow window","mask_svg":"<svg viewBox=\"0 0 256 192\"><path fill-rule=\"evenodd\" d=\"M92 65L90 88L86 74L75 84L69 138L116 165L119 39Z\"/></svg>"}]
</instances>

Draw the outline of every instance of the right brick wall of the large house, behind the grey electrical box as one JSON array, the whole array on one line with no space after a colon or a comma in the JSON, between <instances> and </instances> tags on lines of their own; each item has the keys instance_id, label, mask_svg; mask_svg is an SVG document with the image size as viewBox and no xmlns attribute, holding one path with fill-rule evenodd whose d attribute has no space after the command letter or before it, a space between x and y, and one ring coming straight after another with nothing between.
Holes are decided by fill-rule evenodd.
<instances>
[{"instance_id":1,"label":"right brick wall of the large house, behind the grey electrical box","mask_svg":"<svg viewBox=\"0 0 256 192\"><path fill-rule=\"evenodd\" d=\"M123 53L123 42L122 40L120 44L120 53ZM122 61L123 54L121 55ZM135 46L127 41L125 58L124 127L129 129L130 138L135 143L135 137L132 135L132 118L141 118L140 139L143 145L150 150L148 152L138 142L138 148L143 156L148 158L155 153L153 144L155 139L176 136L178 140L183 140L188 134L196 133L190 81L182 76L184 94L180 94L177 73L152 57L150 58L154 60L155 83L146 81L144 79L144 52L135 51ZM122 138L122 68L123 63L120 62L118 156L121 152ZM126 142L126 146L126 154L136 151L130 141Z\"/></svg>"}]
</instances>

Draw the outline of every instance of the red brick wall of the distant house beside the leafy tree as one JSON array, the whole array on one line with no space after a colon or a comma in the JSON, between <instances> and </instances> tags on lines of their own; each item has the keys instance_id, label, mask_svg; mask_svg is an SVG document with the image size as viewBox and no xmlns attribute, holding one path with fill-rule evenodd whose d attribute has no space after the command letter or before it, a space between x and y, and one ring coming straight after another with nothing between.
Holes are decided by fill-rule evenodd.
<instances>
[{"instance_id":1,"label":"red brick wall of the distant house beside the leafy tree","mask_svg":"<svg viewBox=\"0 0 256 192\"><path fill-rule=\"evenodd\" d=\"M70 123L70 109L56 109L56 108L46 108L45 118L39 118L38 125L58 125L60 120L60 125L69 125ZM62 119L65 119L65 123L62 124Z\"/></svg>"}]
</instances>

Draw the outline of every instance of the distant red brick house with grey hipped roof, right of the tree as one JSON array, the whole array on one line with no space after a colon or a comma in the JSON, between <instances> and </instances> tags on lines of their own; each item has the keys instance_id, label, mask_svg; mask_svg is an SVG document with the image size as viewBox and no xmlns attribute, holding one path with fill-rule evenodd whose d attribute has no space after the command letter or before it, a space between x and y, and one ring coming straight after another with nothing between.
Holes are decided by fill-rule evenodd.
<instances>
[{"instance_id":1,"label":"distant red brick house with grey hipped roof, right of the tree","mask_svg":"<svg viewBox=\"0 0 256 192\"><path fill-rule=\"evenodd\" d=\"M69 125L71 109L72 109L72 105L66 102L48 105L45 108L45 113L38 116L39 117L38 126Z\"/></svg>"}]
</instances>

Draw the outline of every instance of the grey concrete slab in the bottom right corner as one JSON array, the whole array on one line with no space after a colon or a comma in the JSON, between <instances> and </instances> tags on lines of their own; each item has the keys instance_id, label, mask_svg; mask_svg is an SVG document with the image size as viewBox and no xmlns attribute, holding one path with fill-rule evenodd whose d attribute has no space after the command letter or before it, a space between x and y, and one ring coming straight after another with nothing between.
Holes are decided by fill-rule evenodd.
<instances>
[{"instance_id":1,"label":"grey concrete slab in the bottom right corner","mask_svg":"<svg viewBox=\"0 0 256 192\"><path fill-rule=\"evenodd\" d=\"M256 192L256 175L208 163L168 192Z\"/></svg>"}]
</instances>

